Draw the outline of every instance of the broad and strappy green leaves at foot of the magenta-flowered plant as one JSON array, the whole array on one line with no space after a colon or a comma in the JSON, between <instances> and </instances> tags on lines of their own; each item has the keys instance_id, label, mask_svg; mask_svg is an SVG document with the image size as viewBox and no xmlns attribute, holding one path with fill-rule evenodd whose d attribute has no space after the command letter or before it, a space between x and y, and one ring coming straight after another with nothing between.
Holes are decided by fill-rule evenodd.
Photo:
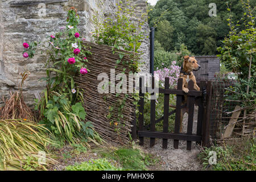
<instances>
[{"instance_id":1,"label":"broad and strappy green leaves at foot of the magenta-flowered plant","mask_svg":"<svg viewBox=\"0 0 256 182\"><path fill-rule=\"evenodd\" d=\"M81 121L86 113L80 102L71 105L67 97L54 91L49 94L47 101L45 98L40 102L46 105L46 107L41 107L40 123L53 131L57 138L64 137L71 143L80 139L93 138L92 123Z\"/></svg>"}]
</instances>

